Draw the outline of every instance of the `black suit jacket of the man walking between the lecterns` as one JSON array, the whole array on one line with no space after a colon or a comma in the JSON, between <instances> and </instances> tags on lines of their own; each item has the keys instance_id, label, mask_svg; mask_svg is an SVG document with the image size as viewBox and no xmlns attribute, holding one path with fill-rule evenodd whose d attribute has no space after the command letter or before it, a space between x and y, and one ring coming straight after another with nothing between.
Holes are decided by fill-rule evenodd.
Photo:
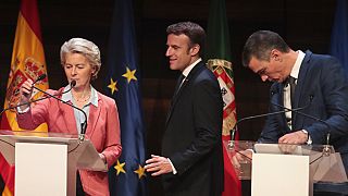
<instances>
[{"instance_id":1,"label":"black suit jacket of the man walking between the lecterns","mask_svg":"<svg viewBox=\"0 0 348 196\"><path fill-rule=\"evenodd\" d=\"M223 103L217 79L202 62L174 95L162 140L162 155L177 173L165 174L170 195L221 195Z\"/></svg>"}]
</instances>

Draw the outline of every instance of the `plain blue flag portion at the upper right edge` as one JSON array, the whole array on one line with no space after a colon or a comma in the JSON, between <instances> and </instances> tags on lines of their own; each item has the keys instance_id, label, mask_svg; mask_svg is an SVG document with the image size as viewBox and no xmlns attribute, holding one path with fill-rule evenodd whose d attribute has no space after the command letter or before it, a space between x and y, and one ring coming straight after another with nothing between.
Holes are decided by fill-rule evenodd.
<instances>
[{"instance_id":1,"label":"plain blue flag portion at the upper right edge","mask_svg":"<svg viewBox=\"0 0 348 196\"><path fill-rule=\"evenodd\" d=\"M348 1L337 0L336 5L330 53L339 59L348 74Z\"/></svg>"}]
</instances>

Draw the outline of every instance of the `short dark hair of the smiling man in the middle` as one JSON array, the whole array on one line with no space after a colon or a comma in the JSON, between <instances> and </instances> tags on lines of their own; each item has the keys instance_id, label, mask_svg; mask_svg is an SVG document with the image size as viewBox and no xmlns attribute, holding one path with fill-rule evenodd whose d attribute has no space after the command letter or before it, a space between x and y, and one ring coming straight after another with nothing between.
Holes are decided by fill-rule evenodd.
<instances>
[{"instance_id":1,"label":"short dark hair of the smiling man in the middle","mask_svg":"<svg viewBox=\"0 0 348 196\"><path fill-rule=\"evenodd\" d=\"M166 35L170 34L174 34L177 36L182 34L186 35L190 40L188 47L191 48L194 45L199 45L199 54L202 54L206 41L206 32L198 24L192 22L181 22L172 24L166 28Z\"/></svg>"}]
</instances>

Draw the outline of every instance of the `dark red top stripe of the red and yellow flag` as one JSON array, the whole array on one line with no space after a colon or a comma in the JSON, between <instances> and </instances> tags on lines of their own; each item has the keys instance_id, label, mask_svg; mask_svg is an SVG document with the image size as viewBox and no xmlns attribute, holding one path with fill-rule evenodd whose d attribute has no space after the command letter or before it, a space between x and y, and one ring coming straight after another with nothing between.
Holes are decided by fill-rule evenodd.
<instances>
[{"instance_id":1,"label":"dark red top stripe of the red and yellow flag","mask_svg":"<svg viewBox=\"0 0 348 196\"><path fill-rule=\"evenodd\" d=\"M42 42L39 12L37 9L36 0L22 0L21 13L25 21L28 23L35 35Z\"/></svg>"}]
</instances>

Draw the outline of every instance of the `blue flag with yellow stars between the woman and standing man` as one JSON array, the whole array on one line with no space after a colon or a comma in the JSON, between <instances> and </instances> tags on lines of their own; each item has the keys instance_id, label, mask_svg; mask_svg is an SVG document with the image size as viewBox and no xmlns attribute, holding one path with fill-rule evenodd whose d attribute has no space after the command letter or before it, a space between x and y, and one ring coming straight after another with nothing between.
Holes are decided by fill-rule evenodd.
<instances>
[{"instance_id":1,"label":"blue flag with yellow stars between the woman and standing man","mask_svg":"<svg viewBox=\"0 0 348 196\"><path fill-rule=\"evenodd\" d=\"M109 171L110 193L146 195L145 127L132 0L115 1L107 66L105 95L116 101L122 144L122 155Z\"/></svg>"}]
</instances>

